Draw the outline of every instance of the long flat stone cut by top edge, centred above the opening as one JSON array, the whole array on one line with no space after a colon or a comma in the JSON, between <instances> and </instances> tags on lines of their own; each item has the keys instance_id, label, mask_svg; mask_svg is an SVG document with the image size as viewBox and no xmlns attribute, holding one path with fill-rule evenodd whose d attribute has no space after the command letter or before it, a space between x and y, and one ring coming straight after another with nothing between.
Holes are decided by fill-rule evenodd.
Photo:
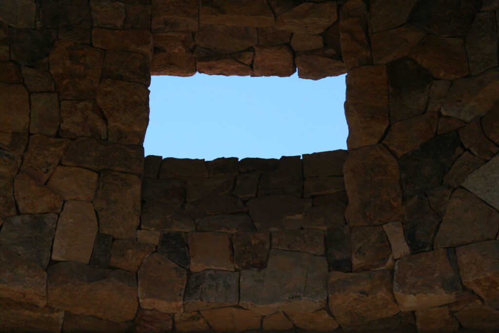
<instances>
[{"instance_id":1,"label":"long flat stone cut by top edge, centred above the opening","mask_svg":"<svg viewBox=\"0 0 499 333\"><path fill-rule=\"evenodd\" d=\"M265 0L237 4L227 0L202 1L199 22L263 27L274 24L274 14Z\"/></svg>"}]
</instances>

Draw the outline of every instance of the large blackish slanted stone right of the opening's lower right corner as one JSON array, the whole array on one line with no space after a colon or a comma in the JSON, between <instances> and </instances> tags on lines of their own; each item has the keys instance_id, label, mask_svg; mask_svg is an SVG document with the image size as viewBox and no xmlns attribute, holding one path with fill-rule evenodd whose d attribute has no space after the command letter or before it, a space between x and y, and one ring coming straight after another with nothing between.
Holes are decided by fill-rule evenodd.
<instances>
[{"instance_id":1,"label":"large blackish slanted stone right of the opening's lower right corner","mask_svg":"<svg viewBox=\"0 0 499 333\"><path fill-rule=\"evenodd\" d=\"M456 132L439 135L400 158L400 183L405 198L442 185L445 174L462 153Z\"/></svg>"}]
</instances>

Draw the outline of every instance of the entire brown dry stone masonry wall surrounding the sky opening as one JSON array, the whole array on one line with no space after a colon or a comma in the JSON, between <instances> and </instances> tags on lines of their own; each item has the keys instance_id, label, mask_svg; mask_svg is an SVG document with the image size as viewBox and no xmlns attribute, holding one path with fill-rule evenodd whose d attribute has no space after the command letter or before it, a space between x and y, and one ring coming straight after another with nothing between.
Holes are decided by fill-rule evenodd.
<instances>
[{"instance_id":1,"label":"entire brown dry stone masonry wall surrounding the sky opening","mask_svg":"<svg viewBox=\"0 0 499 333\"><path fill-rule=\"evenodd\" d=\"M0 332L499 332L498 32L498 0L0 0ZM144 157L151 75L296 70L347 73L348 151Z\"/></svg>"}]
</instances>

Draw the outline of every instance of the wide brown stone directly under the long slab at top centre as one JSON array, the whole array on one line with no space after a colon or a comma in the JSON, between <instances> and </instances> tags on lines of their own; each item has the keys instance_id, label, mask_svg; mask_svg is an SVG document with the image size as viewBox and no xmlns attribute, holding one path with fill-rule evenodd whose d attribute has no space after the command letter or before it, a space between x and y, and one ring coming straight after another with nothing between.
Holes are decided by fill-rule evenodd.
<instances>
[{"instance_id":1,"label":"wide brown stone directly under the long slab at top centre","mask_svg":"<svg viewBox=\"0 0 499 333\"><path fill-rule=\"evenodd\" d=\"M217 53L233 53L258 44L256 28L200 24L194 43Z\"/></svg>"}]
</instances>

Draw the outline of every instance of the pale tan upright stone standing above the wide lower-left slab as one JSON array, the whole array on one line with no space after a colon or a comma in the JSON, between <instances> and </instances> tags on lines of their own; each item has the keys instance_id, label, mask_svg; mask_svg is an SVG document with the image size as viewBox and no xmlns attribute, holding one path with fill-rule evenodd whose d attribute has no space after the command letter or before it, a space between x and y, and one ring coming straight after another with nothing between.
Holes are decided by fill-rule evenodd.
<instances>
[{"instance_id":1,"label":"pale tan upright stone standing above the wide lower-left slab","mask_svg":"<svg viewBox=\"0 0 499 333\"><path fill-rule=\"evenodd\" d=\"M52 260L88 264L97 229L97 217L91 203L67 201L57 221Z\"/></svg>"}]
</instances>

